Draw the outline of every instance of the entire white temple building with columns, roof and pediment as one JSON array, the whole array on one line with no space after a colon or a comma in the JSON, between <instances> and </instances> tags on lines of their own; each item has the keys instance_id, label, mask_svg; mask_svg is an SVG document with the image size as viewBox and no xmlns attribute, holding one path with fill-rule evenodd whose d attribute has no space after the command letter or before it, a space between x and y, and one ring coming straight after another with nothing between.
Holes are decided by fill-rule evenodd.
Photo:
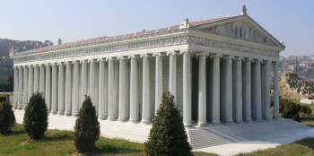
<instances>
[{"instance_id":1,"label":"entire white temple building with columns, roof and pediment","mask_svg":"<svg viewBox=\"0 0 314 156\"><path fill-rule=\"evenodd\" d=\"M43 92L52 115L77 117L85 95L101 120L150 124L170 91L185 126L279 117L278 62L283 42L242 9L240 15L163 29L62 43L11 54L13 108Z\"/></svg>"}]
</instances>

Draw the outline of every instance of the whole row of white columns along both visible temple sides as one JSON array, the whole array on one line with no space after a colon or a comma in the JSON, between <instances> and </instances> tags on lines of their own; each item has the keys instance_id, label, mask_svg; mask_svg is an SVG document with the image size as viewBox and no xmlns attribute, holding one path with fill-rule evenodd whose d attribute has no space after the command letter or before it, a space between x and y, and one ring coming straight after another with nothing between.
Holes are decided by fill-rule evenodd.
<instances>
[{"instance_id":1,"label":"whole row of white columns along both visible temple sides","mask_svg":"<svg viewBox=\"0 0 314 156\"><path fill-rule=\"evenodd\" d=\"M163 64L165 57L168 66ZM276 62L189 50L15 65L13 108L25 108L31 94L39 91L44 92L50 113L77 117L86 94L100 119L149 124L161 104L167 80L182 108L185 126L268 120L270 64L275 71L274 118L278 118ZM169 79L163 75L165 69Z\"/></svg>"}]
</instances>

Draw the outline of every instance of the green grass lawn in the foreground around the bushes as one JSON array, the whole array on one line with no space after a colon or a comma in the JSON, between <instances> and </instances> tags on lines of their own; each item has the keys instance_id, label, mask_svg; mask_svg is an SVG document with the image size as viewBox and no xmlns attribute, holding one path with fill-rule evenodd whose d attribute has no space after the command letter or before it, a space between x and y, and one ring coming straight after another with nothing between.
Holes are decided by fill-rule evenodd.
<instances>
[{"instance_id":1,"label":"green grass lawn in the foreground around the bushes","mask_svg":"<svg viewBox=\"0 0 314 156\"><path fill-rule=\"evenodd\" d=\"M307 122L314 126L314 121ZM0 135L0 155L74 155L73 132L48 130L45 135L46 138L39 142L28 143L29 136L24 132L22 125L15 124L10 135ZM92 155L144 155L144 143L100 137L96 145L100 151L93 152ZM275 149L238 155L314 155L313 149L314 138L307 138L280 145ZM193 154L216 155L205 152L193 152Z\"/></svg>"}]
</instances>

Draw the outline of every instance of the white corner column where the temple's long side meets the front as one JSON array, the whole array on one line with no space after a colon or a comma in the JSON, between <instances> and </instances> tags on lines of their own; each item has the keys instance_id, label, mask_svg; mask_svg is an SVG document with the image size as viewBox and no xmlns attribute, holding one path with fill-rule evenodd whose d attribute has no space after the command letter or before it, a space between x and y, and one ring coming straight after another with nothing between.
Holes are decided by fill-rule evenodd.
<instances>
[{"instance_id":1,"label":"white corner column where the temple's long side meets the front","mask_svg":"<svg viewBox=\"0 0 314 156\"><path fill-rule=\"evenodd\" d=\"M192 126L192 101L191 101L191 51L180 51L183 55L183 123Z\"/></svg>"}]
</instances>

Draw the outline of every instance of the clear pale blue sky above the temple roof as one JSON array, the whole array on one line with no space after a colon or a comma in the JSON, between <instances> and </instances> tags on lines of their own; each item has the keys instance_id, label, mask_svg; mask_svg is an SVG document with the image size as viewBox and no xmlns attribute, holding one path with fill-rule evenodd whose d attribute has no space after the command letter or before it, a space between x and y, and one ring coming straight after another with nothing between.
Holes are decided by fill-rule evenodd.
<instances>
[{"instance_id":1,"label":"clear pale blue sky above the temple roof","mask_svg":"<svg viewBox=\"0 0 314 156\"><path fill-rule=\"evenodd\" d=\"M310 0L0 0L0 39L46 39L57 44L155 30L190 22L248 15L286 47L281 56L314 55Z\"/></svg>"}]
</instances>

